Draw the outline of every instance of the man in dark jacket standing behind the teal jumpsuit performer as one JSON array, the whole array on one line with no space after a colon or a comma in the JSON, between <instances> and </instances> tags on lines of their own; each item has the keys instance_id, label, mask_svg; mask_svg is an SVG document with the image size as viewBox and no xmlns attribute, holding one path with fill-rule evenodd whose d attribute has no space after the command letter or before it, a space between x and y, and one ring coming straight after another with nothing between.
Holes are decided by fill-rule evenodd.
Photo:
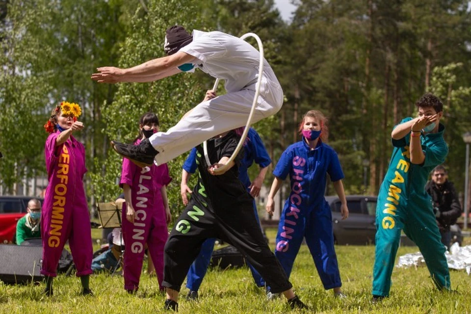
<instances>
[{"instance_id":1,"label":"man in dark jacket standing behind the teal jumpsuit performer","mask_svg":"<svg viewBox=\"0 0 471 314\"><path fill-rule=\"evenodd\" d=\"M448 181L448 173L442 165L432 170L432 180L425 190L432 197L433 211L442 235L442 243L450 248L450 226L461 216L461 204L453 183Z\"/></svg>"}]
</instances>

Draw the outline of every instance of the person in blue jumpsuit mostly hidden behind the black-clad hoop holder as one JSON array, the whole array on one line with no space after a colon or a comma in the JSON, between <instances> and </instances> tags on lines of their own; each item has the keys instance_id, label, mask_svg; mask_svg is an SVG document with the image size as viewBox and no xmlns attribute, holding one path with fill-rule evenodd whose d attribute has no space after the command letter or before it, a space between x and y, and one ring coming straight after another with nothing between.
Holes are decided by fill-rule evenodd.
<instances>
[{"instance_id":1,"label":"person in blue jumpsuit mostly hidden behind the black-clad hoop holder","mask_svg":"<svg viewBox=\"0 0 471 314\"><path fill-rule=\"evenodd\" d=\"M254 163L254 161L260 166L260 172L257 178L255 178L254 181L251 182L248 175L248 168ZM253 197L257 197L259 195L260 188L262 186L265 174L270 164L271 159L268 156L268 152L266 151L265 146L263 145L260 135L253 128L250 128L247 134L246 142L244 143L244 157L241 160L239 166L239 180L244 184L244 186L247 188L247 190ZM196 148L193 148L190 151L190 154L186 158L185 162L183 163L181 194L184 205L188 204L186 193L191 193L191 189L188 187L187 182L190 174L195 173L196 168ZM257 222L260 225L255 199L254 211ZM211 254L214 249L215 240L215 238L211 238L203 243L200 254L188 270L186 288L189 289L187 295L187 298L189 299L198 298L198 289L200 288L201 283L203 282L203 278L206 275L206 271L211 260ZM247 265L249 266L252 272L252 277L254 278L255 284L258 287L264 287L265 282L263 281L260 274L250 263L247 263Z\"/></svg>"}]
</instances>

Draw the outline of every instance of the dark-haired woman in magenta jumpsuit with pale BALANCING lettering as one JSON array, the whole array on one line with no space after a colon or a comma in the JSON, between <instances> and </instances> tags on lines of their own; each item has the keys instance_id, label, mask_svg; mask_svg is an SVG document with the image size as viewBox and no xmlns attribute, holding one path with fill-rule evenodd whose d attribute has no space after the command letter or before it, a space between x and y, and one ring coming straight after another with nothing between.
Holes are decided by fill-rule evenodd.
<instances>
[{"instance_id":1,"label":"dark-haired woman in magenta jumpsuit with pale BALANCING lettering","mask_svg":"<svg viewBox=\"0 0 471 314\"><path fill-rule=\"evenodd\" d=\"M146 113L139 120L139 136L134 141L139 145L158 131L158 119L154 113ZM123 210L124 288L133 293L139 288L144 250L147 244L149 255L156 268L158 285L162 288L163 247L168 238L167 223L170 222L167 191L165 186L172 181L167 164L138 167L129 159L123 159L121 185L124 189L126 209ZM151 260L150 259L150 260Z\"/></svg>"}]
</instances>

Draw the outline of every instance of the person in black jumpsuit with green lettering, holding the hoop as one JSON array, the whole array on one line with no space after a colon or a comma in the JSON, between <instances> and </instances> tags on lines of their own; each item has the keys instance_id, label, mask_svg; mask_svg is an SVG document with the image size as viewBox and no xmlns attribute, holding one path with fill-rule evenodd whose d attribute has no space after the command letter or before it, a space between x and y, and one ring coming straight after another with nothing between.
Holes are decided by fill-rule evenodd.
<instances>
[{"instance_id":1,"label":"person in black jumpsuit with green lettering, holding the hoop","mask_svg":"<svg viewBox=\"0 0 471 314\"><path fill-rule=\"evenodd\" d=\"M237 165L243 152L225 173L213 174L213 169L225 164L233 154L239 139L234 130L209 139L208 156L212 165L206 163L203 145L197 147L198 183L164 249L165 309L178 310L178 294L188 269L203 242L213 237L235 246L259 271L273 293L285 294L291 308L306 307L294 294L285 271L266 244L255 217L253 198L238 179Z\"/></svg>"}]
</instances>

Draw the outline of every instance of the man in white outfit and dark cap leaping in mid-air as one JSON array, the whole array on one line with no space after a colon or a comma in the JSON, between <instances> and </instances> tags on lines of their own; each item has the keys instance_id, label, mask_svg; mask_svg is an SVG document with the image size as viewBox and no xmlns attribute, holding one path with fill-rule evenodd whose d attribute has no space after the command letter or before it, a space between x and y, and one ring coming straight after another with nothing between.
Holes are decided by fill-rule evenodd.
<instances>
[{"instance_id":1,"label":"man in white outfit and dark cap leaping in mid-air","mask_svg":"<svg viewBox=\"0 0 471 314\"><path fill-rule=\"evenodd\" d=\"M167 56L132 68L98 68L92 79L103 83L150 82L199 68L213 78L224 79L227 94L197 105L177 125L157 132L140 145L112 142L116 152L138 166L150 166L154 160L157 165L163 164L211 137L245 126L255 97L260 56L244 40L219 31L193 30L190 35L182 26L171 26L166 31L164 51ZM283 90L264 60L253 122L275 114L282 105Z\"/></svg>"}]
</instances>

